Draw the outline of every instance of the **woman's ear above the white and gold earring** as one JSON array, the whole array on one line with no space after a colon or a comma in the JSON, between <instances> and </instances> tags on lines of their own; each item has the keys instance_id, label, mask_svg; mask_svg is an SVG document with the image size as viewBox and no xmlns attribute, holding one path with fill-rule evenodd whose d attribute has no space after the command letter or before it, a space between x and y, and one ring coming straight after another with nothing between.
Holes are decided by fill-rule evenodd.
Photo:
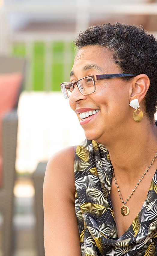
<instances>
[{"instance_id":1,"label":"woman's ear above the white and gold earring","mask_svg":"<svg viewBox=\"0 0 157 256\"><path fill-rule=\"evenodd\" d=\"M138 101L141 102L149 89L149 85L150 80L146 74L135 76L132 80L130 101L133 99L138 99Z\"/></svg>"}]
</instances>

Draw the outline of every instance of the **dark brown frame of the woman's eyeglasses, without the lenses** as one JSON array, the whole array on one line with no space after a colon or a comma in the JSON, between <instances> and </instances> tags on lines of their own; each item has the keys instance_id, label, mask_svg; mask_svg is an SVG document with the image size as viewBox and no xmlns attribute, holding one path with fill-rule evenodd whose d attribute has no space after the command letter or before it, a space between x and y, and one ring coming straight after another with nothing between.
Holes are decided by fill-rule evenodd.
<instances>
[{"instance_id":1,"label":"dark brown frame of the woman's eyeglasses, without the lenses","mask_svg":"<svg viewBox=\"0 0 157 256\"><path fill-rule=\"evenodd\" d=\"M82 95L90 95L92 94L93 92L95 92L95 80L101 80L101 79L111 79L111 78L119 78L119 77L131 77L131 76L136 76L135 74L126 74L126 73L116 73L116 74L103 74L103 75L92 75L92 76L85 76L79 80L77 80L76 82L63 82L63 83L60 83L60 86L62 86L62 84L65 84L65 83L69 83L69 84L72 84L73 86L73 90L74 90L74 85L76 85L79 89L79 92L82 94ZM91 77L92 80L93 80L93 85L94 85L94 90L93 92L90 92L90 93L87 93L87 94L84 94L83 92L81 92L81 89L79 87L79 85L77 84L80 80L84 79L84 78L88 78L88 77ZM61 90L62 90L62 87L61 87ZM63 93L63 92L62 92ZM64 95L64 93L63 93ZM65 96L64 96L65 97ZM65 98L65 99L69 99L69 98Z\"/></svg>"}]
</instances>

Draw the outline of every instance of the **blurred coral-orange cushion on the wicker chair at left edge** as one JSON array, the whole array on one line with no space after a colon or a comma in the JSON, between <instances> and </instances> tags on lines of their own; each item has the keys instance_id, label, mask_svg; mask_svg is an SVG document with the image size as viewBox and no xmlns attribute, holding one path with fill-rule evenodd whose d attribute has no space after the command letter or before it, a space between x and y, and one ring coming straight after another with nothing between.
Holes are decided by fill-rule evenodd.
<instances>
[{"instance_id":1,"label":"blurred coral-orange cushion on the wicker chair at left edge","mask_svg":"<svg viewBox=\"0 0 157 256\"><path fill-rule=\"evenodd\" d=\"M22 75L20 73L0 74L0 185L2 173L2 119L4 115L16 106Z\"/></svg>"}]
</instances>

